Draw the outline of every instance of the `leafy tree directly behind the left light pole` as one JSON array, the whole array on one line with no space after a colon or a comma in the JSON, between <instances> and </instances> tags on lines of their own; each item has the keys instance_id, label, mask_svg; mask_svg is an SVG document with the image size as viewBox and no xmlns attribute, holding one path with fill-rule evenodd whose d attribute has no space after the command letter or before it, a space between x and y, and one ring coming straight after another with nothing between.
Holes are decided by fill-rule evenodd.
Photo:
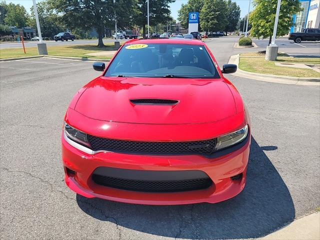
<instances>
[{"instance_id":1,"label":"leafy tree directly behind the left light pole","mask_svg":"<svg viewBox=\"0 0 320 240\"><path fill-rule=\"evenodd\" d=\"M53 37L58 32L63 31L64 28L61 26L60 16L50 8L50 5L46 1L37 2L36 7L42 37ZM31 17L28 20L28 25L36 28L33 6L30 8L30 12Z\"/></svg>"}]
</instances>

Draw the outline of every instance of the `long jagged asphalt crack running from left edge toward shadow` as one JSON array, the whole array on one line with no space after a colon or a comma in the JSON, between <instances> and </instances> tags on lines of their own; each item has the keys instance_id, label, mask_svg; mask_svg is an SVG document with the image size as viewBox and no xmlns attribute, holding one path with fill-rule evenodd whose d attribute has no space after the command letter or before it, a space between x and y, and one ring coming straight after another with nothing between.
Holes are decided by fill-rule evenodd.
<instances>
[{"instance_id":1,"label":"long jagged asphalt crack running from left edge toward shadow","mask_svg":"<svg viewBox=\"0 0 320 240\"><path fill-rule=\"evenodd\" d=\"M54 189L54 188L53 188L53 184L50 183L49 181L46 181L46 180L44 180L43 178L41 178L41 177L39 177L39 176L35 176L35 175L31 174L30 172L21 171L21 170L15 170L15 171L13 171L13 170L10 170L10 169L8 169L8 168L6 168L6 167L1 167L0 169L1 169L1 170L5 170L5 171L10 172L10 173L20 172L20 173L23 173L23 174L25 174L25 175L28 175L28 176L30 176L30 177L32 177L32 178L36 178L36 179L40 180L40 182L49 185L50 188L51 188L51 191L53 191L53 192L59 192L59 193L61 193L65 198L67 198L67 199L69 199L69 200L72 200L72 201L75 201L75 202L77 201L77 200L75 200L74 198L71 198L71 197L67 196L63 191L58 190L58 189ZM118 220L117 220L115 217L106 215L106 214L102 211L102 209L96 207L96 206L93 205L92 203L89 203L89 202L87 202L87 201L83 201L83 200L80 200L80 199L78 199L78 201L80 201L80 202L82 202L82 203L84 203L84 204L92 207L92 208L95 209L96 211L98 211L98 212L103 216L103 218L104 218L105 220L107 220L107 219L113 219L114 224L115 224L115 228L116 228L117 231L119 232L119 238L118 238L118 239L121 240L121 238L122 238L121 228L120 228L120 226L119 226L119 224L118 224Z\"/></svg>"}]
</instances>

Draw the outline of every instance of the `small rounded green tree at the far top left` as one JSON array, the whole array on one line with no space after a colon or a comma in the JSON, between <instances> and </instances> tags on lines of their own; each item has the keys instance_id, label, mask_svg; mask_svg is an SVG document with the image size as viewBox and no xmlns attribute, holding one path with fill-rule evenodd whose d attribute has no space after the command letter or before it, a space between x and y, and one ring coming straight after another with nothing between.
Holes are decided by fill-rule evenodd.
<instances>
[{"instance_id":1,"label":"small rounded green tree at the far top left","mask_svg":"<svg viewBox=\"0 0 320 240\"><path fill-rule=\"evenodd\" d=\"M6 23L7 25L17 27L25 26L28 17L29 15L27 14L24 6L13 3L6 4L6 14L4 16L4 23Z\"/></svg>"}]
</instances>

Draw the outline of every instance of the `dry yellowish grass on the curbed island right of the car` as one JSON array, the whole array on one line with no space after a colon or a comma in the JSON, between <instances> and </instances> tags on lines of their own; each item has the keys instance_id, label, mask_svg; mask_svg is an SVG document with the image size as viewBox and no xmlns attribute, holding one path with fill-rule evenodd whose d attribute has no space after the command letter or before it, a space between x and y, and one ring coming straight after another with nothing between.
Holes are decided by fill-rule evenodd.
<instances>
[{"instance_id":1,"label":"dry yellowish grass on the curbed island right of the car","mask_svg":"<svg viewBox=\"0 0 320 240\"><path fill-rule=\"evenodd\" d=\"M320 58L307 57L278 57L278 62L293 62L293 63L313 63L320 64ZM320 77L320 73L312 69L294 68L287 66L276 66L275 61L266 61L261 57L240 57L239 69L250 72L297 76L297 77Z\"/></svg>"}]
</instances>

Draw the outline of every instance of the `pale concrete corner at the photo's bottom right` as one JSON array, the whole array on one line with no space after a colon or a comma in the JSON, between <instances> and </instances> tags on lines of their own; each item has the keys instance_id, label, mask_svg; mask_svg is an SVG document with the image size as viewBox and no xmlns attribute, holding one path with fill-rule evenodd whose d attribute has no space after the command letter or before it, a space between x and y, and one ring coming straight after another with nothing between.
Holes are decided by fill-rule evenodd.
<instances>
[{"instance_id":1,"label":"pale concrete corner at the photo's bottom right","mask_svg":"<svg viewBox=\"0 0 320 240\"><path fill-rule=\"evenodd\" d=\"M320 212L311 213L286 226L258 238L260 240L318 240L320 239Z\"/></svg>"}]
</instances>

